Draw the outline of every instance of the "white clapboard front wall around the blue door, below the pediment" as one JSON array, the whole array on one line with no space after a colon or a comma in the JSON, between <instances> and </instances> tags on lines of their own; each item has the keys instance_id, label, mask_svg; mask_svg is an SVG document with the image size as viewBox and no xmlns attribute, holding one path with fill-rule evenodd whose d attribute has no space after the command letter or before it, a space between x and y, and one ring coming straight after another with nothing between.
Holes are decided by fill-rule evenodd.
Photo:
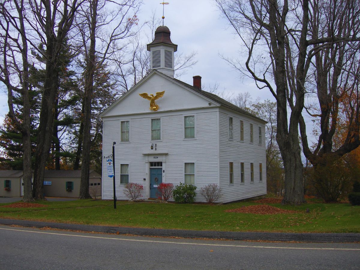
<instances>
[{"instance_id":1,"label":"white clapboard front wall around the blue door, below the pediment","mask_svg":"<svg viewBox=\"0 0 360 270\"><path fill-rule=\"evenodd\" d=\"M195 139L184 139L184 115L195 116ZM161 117L162 138L150 140L150 118ZM143 115L117 117L119 120L103 119L103 157L112 153L115 145L116 196L127 199L123 194L124 185L119 181L121 163L129 164L129 181L144 186L143 196L149 185L147 156L144 154L168 153L163 161L163 182L184 183L184 162L196 163L195 183L200 188L207 184L219 185L218 171L218 112L217 108L177 112L157 112ZM120 142L120 121L130 120L130 142ZM152 143L157 150L150 150ZM107 176L106 160L103 159L103 199L112 199L113 181ZM143 179L146 179L144 181ZM196 200L203 198L198 195Z\"/></svg>"}]
</instances>

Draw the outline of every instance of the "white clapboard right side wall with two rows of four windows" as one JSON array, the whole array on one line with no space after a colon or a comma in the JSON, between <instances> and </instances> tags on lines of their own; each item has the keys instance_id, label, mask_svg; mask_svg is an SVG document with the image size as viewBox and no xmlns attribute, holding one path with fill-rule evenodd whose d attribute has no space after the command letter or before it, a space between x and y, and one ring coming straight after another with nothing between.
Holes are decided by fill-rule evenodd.
<instances>
[{"instance_id":1,"label":"white clapboard right side wall with two rows of four windows","mask_svg":"<svg viewBox=\"0 0 360 270\"><path fill-rule=\"evenodd\" d=\"M229 139L229 116L233 117L233 140ZM240 141L240 120L244 121L244 140ZM253 143L250 143L250 123L253 124ZM265 124L235 112L221 109L220 125L220 187L221 202L231 202L266 194ZM262 144L258 142L258 127L262 127ZM234 184L229 183L229 162L234 162ZM240 183L240 162L244 162L245 182ZM250 163L254 163L254 181L250 181ZM262 163L262 181L259 180Z\"/></svg>"}]
</instances>

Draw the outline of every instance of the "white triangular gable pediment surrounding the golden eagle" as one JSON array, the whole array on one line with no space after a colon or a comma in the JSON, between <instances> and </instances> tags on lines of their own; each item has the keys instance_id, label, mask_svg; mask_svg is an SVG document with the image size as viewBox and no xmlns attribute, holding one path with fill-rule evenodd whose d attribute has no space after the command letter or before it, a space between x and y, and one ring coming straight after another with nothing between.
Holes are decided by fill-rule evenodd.
<instances>
[{"instance_id":1,"label":"white triangular gable pediment surrounding the golden eagle","mask_svg":"<svg viewBox=\"0 0 360 270\"><path fill-rule=\"evenodd\" d=\"M143 93L156 95L157 92L162 91L165 91L164 95L155 101L159 106L156 112L150 110L150 100L139 95ZM107 108L101 116L157 113L203 108L209 107L209 102L213 103L212 100L195 93L195 91L179 84L175 80L171 80L171 78L164 76L157 71L153 71Z\"/></svg>"}]
</instances>

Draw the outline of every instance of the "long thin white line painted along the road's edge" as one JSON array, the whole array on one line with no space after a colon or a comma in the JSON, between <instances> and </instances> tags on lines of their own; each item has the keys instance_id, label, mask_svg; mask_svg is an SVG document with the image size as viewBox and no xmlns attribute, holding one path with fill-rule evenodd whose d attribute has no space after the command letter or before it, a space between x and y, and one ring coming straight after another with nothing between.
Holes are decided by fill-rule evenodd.
<instances>
[{"instance_id":1,"label":"long thin white line painted along the road's edge","mask_svg":"<svg viewBox=\"0 0 360 270\"><path fill-rule=\"evenodd\" d=\"M48 232L45 232L45 231L30 231L30 230L19 230L19 229L8 229L8 228L0 228L0 229L1 229L1 230L9 230L9 231L23 231L23 232L27 232L27 233L41 233L41 234L66 235L66 236L72 236L72 237L97 238L97 239L111 239L111 240L133 241L133 242L148 242L148 243L167 243L167 244L194 245L194 246L246 247L246 248L277 248L277 249L311 249L311 250L314 250L314 249L316 249L316 250L353 250L353 251L360 251L360 248L271 247L271 246L249 246L249 245L224 245L224 244L186 243L186 242L172 242L172 241L155 241L155 240L125 239L125 238L114 238L114 237L100 237L100 236L78 235L78 234L48 233Z\"/></svg>"}]
</instances>

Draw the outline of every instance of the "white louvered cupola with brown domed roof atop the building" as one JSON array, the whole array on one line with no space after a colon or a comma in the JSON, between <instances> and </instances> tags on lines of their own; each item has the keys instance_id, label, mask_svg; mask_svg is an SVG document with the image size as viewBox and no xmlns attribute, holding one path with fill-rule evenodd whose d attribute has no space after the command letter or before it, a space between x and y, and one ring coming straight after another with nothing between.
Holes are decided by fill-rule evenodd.
<instances>
[{"instance_id":1,"label":"white louvered cupola with brown domed roof atop the building","mask_svg":"<svg viewBox=\"0 0 360 270\"><path fill-rule=\"evenodd\" d=\"M177 51L177 45L171 42L169 28L159 26L147 49L150 51L150 69L157 69L174 78L174 52Z\"/></svg>"}]
</instances>

